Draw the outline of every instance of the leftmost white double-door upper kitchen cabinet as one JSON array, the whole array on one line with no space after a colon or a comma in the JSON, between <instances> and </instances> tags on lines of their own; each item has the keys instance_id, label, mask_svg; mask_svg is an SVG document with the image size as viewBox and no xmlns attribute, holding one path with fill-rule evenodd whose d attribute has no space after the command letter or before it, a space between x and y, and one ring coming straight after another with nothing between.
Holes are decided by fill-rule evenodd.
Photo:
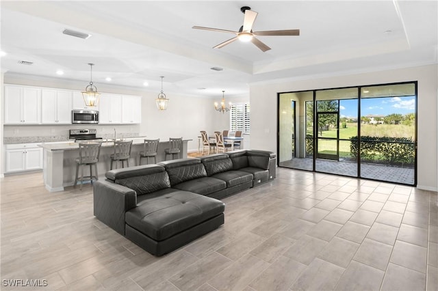
<instances>
[{"instance_id":1,"label":"leftmost white double-door upper kitchen cabinet","mask_svg":"<svg viewBox=\"0 0 438 291\"><path fill-rule=\"evenodd\" d=\"M40 124L41 89L5 85L5 124Z\"/></svg>"}]
</instances>

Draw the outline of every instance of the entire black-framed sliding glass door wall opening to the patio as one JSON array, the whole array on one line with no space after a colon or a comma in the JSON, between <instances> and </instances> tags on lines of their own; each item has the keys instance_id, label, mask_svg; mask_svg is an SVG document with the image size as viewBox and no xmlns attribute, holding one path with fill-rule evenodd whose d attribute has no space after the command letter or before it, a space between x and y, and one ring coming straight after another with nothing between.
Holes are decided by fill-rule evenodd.
<instances>
[{"instance_id":1,"label":"entire black-framed sliding glass door wall opening to the patio","mask_svg":"<svg viewBox=\"0 0 438 291\"><path fill-rule=\"evenodd\" d=\"M280 167L416 184L417 83L279 94Z\"/></svg>"}]
</instances>

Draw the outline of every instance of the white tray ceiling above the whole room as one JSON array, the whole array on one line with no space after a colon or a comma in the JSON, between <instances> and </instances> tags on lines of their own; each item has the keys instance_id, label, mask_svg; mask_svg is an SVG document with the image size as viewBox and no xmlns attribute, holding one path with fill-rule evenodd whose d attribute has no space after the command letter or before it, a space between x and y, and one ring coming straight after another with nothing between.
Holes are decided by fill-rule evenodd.
<instances>
[{"instance_id":1,"label":"white tray ceiling above the whole room","mask_svg":"<svg viewBox=\"0 0 438 291\"><path fill-rule=\"evenodd\" d=\"M196 96L248 94L248 84L437 63L437 1L1 1L1 70ZM242 6L270 51L233 42ZM92 34L83 40L62 34ZM31 61L26 66L18 61ZM211 67L224 70L216 72ZM59 77L57 70L63 70ZM148 87L143 83L147 81ZM205 88L205 89L199 89Z\"/></svg>"}]
</instances>

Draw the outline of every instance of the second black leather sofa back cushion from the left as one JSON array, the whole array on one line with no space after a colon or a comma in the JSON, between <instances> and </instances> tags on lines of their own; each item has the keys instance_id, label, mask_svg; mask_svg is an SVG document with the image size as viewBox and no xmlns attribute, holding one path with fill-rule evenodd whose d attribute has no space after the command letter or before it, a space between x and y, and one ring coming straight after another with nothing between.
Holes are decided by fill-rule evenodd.
<instances>
[{"instance_id":1,"label":"second black leather sofa back cushion from the left","mask_svg":"<svg viewBox=\"0 0 438 291\"><path fill-rule=\"evenodd\" d=\"M196 178L207 177L207 171L205 171L205 167L199 158L179 158L172 161L163 161L158 165L166 169L170 186Z\"/></svg>"}]
</instances>

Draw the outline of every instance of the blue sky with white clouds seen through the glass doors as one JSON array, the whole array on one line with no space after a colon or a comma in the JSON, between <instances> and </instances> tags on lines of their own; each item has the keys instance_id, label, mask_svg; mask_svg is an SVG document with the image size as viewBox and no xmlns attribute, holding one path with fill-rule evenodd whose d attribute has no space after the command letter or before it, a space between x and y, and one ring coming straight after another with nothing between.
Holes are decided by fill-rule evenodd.
<instances>
[{"instance_id":1,"label":"blue sky with white clouds seen through the glass doors","mask_svg":"<svg viewBox=\"0 0 438 291\"><path fill-rule=\"evenodd\" d=\"M357 99L341 100L341 117L357 117ZM385 97L363 98L361 100L361 115L389 115L400 113L402 115L415 112L415 97Z\"/></svg>"}]
</instances>

